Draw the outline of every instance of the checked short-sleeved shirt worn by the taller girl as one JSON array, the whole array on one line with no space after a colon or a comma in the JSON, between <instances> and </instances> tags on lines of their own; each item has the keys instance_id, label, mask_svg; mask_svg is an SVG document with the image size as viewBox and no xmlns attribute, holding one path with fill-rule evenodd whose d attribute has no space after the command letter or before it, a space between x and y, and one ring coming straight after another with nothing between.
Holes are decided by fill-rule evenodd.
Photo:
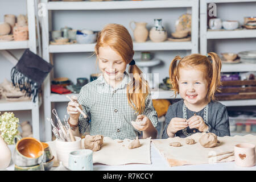
<instances>
[{"instance_id":1,"label":"checked short-sleeved shirt worn by the taller girl","mask_svg":"<svg viewBox=\"0 0 256 182\"><path fill-rule=\"evenodd\" d=\"M90 135L104 135L112 139L134 139L139 135L139 131L131 125L137 114L127 99L126 86L130 81L131 78L125 72L122 82L113 88L101 74L97 80L82 87L78 102L88 118L80 114L80 133L83 134L90 125ZM156 127L158 116L152 104L151 94L148 94L145 104L146 108L142 114L146 115Z\"/></svg>"}]
</instances>

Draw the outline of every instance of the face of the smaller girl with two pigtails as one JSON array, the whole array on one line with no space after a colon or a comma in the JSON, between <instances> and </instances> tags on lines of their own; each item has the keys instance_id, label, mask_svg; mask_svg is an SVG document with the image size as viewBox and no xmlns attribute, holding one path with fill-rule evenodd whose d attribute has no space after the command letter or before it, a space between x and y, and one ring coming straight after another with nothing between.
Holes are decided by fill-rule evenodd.
<instances>
[{"instance_id":1,"label":"face of the smaller girl with two pigtails","mask_svg":"<svg viewBox=\"0 0 256 182\"><path fill-rule=\"evenodd\" d=\"M190 67L189 69L179 69L179 93L180 96L196 104L201 100L204 100L208 93L208 82L205 78L204 72L200 69Z\"/></svg>"}]
</instances>

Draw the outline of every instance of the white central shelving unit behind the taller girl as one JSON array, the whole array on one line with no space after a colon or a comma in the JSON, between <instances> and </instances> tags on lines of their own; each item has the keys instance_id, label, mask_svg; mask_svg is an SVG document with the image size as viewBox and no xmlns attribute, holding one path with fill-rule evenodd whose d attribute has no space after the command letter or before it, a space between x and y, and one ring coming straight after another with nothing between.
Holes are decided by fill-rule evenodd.
<instances>
[{"instance_id":1,"label":"white central shelving unit behind the taller girl","mask_svg":"<svg viewBox=\"0 0 256 182\"><path fill-rule=\"evenodd\" d=\"M49 31L51 26L51 11L54 10L125 10L125 9L159 9L159 8L191 8L192 14L192 32L190 42L161 42L153 43L135 43L134 51L170 51L186 50L191 53L198 53L198 32L199 32L199 1L198 0L160 0L160 1L104 1L104 2L48 2L42 0L46 7L46 16L42 17L42 39L43 41L43 59L49 62L49 53L67 53L67 52L93 52L95 44L72 44L72 45L49 45ZM50 77L44 82L44 114L51 117L52 102L68 102L65 96L51 94ZM157 97L158 96L158 97ZM152 92L154 98L171 98L171 91L159 90ZM51 123L46 123L46 140L51 140Z\"/></svg>"}]
</instances>

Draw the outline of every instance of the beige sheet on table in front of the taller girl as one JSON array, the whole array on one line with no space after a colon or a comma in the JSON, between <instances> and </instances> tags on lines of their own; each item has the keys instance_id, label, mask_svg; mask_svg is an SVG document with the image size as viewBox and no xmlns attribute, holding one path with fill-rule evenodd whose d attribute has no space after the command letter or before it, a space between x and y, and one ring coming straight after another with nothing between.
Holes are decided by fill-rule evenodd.
<instances>
[{"instance_id":1,"label":"beige sheet on table in front of the taller girl","mask_svg":"<svg viewBox=\"0 0 256 182\"><path fill-rule=\"evenodd\" d=\"M150 140L139 139L141 147L129 149L128 145L132 140L125 139L118 143L109 137L104 137L101 150L93 152L93 163L101 163L106 165L123 165L130 163L151 164ZM51 148L53 156L53 166L59 166L55 149L55 141L46 142ZM82 147L84 148L84 139L82 139Z\"/></svg>"}]
</instances>

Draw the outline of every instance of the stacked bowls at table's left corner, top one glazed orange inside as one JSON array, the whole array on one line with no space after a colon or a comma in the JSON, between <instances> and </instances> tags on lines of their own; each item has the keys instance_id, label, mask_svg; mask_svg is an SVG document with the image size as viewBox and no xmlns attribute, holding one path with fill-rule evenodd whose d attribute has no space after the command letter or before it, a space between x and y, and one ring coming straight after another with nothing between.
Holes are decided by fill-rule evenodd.
<instances>
[{"instance_id":1,"label":"stacked bowls at table's left corner, top one glazed orange inside","mask_svg":"<svg viewBox=\"0 0 256 182\"><path fill-rule=\"evenodd\" d=\"M44 146L39 140L32 137L18 138L18 140L16 138L15 143L13 152L15 171L44 171L44 168L52 167L53 157L49 154L44 155ZM52 159L48 160L47 156Z\"/></svg>"}]
</instances>

